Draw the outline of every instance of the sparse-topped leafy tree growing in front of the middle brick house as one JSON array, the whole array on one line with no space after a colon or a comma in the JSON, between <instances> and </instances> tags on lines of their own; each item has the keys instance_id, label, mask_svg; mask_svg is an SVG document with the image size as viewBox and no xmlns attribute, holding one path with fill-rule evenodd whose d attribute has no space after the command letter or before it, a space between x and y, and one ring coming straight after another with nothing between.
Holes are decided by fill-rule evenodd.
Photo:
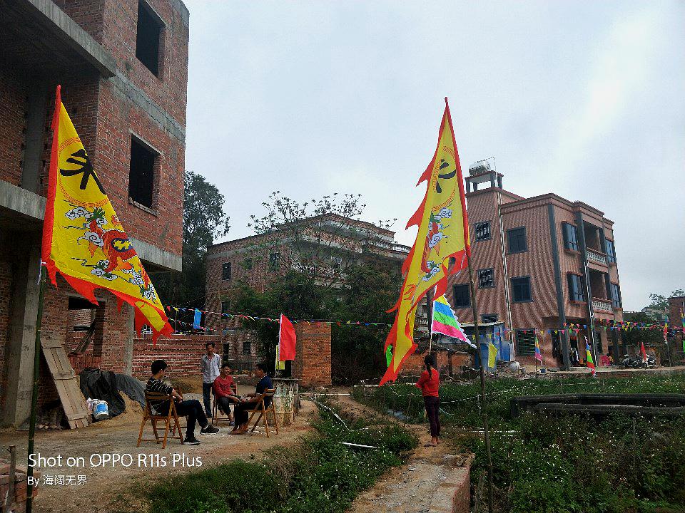
<instances>
[{"instance_id":1,"label":"sparse-topped leafy tree growing in front of the middle brick house","mask_svg":"<svg viewBox=\"0 0 685 513\"><path fill-rule=\"evenodd\" d=\"M291 319L365 321L390 324L387 314L399 294L400 261L383 257L394 250L387 229L392 221L360 221L365 204L360 195L337 193L300 203L280 192L263 203L263 217L250 216L248 227L262 235L254 253L280 252L280 275L263 293L247 284L230 291L235 312ZM262 265L269 264L263 262ZM258 333L260 356L273 363L278 324L248 321ZM384 362L382 344L389 328L333 325L333 373L340 381L377 374Z\"/></svg>"}]
</instances>

